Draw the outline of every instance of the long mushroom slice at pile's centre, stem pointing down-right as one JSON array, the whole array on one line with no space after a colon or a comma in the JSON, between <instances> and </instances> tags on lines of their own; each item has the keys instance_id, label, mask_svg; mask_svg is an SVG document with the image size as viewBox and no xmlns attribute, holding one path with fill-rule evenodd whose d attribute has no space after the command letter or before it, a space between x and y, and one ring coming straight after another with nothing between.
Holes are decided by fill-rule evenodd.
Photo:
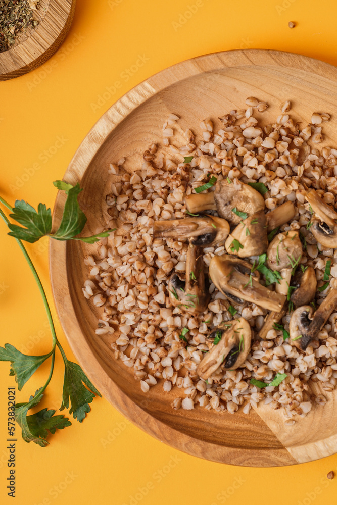
<instances>
[{"instance_id":1,"label":"long mushroom slice at pile's centre, stem pointing down-right","mask_svg":"<svg viewBox=\"0 0 337 505\"><path fill-rule=\"evenodd\" d=\"M240 272L237 262L233 261L229 255L214 256L209 272L212 281L223 294L230 293L237 298L275 312L280 312L283 307L285 296L262 286L253 275Z\"/></svg>"}]
</instances>

